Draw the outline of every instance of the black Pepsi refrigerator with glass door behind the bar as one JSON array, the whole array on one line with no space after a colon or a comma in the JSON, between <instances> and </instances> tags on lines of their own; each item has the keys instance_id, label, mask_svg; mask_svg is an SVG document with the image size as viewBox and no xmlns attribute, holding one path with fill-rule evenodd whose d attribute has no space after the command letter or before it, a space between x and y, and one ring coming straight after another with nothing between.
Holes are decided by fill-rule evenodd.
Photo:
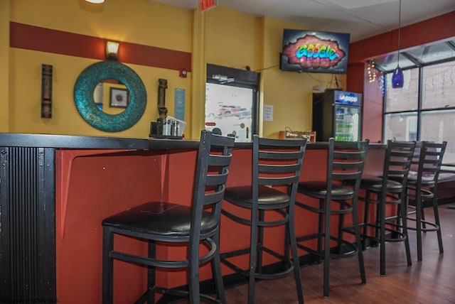
<instances>
[{"instance_id":1,"label":"black Pepsi refrigerator with glass door behind the bar","mask_svg":"<svg viewBox=\"0 0 455 304\"><path fill-rule=\"evenodd\" d=\"M362 94L326 89L313 94L313 130L317 141L360 141Z\"/></svg>"}]
</instances>

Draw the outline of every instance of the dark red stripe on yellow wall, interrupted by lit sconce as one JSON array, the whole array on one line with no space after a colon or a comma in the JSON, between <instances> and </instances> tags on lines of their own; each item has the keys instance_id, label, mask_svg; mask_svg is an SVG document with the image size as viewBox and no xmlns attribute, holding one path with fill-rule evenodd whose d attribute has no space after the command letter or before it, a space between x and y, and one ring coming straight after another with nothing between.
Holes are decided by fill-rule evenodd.
<instances>
[{"instance_id":1,"label":"dark red stripe on yellow wall, interrupted by lit sconce","mask_svg":"<svg viewBox=\"0 0 455 304\"><path fill-rule=\"evenodd\" d=\"M11 48L105 60L105 39L10 22ZM191 72L191 53L120 41L119 62Z\"/></svg>"}]
</instances>

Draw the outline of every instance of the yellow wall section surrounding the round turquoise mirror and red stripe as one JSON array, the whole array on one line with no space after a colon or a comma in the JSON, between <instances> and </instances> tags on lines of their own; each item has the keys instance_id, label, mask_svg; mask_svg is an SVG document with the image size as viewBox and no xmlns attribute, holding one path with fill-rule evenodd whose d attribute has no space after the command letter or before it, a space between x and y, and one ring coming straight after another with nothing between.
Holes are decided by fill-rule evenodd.
<instances>
[{"instance_id":1,"label":"yellow wall section surrounding the round turquoise mirror and red stripe","mask_svg":"<svg viewBox=\"0 0 455 304\"><path fill-rule=\"evenodd\" d=\"M109 0L100 7L85 1L9 1L10 21L58 29L88 36L128 41L142 45L191 53L191 11L176 9L149 0L128 2ZM171 18L169 18L171 16ZM4 22L4 19L2 19ZM9 45L9 40L7 40ZM120 48L122 46L120 45ZM120 50L122 51L122 50ZM178 77L178 71L142 65L129 65L146 87L147 106L140 121L125 131L109 133L87 124L77 112L73 91L77 76L97 60L68 55L10 49L10 127L18 133L73 134L147 138L150 121L156 120L158 80L168 80L166 106L173 114L174 90L186 90L187 114L191 105L191 73ZM53 65L53 118L41 119L41 64ZM1 99L1 103L5 99Z\"/></svg>"}]
</instances>

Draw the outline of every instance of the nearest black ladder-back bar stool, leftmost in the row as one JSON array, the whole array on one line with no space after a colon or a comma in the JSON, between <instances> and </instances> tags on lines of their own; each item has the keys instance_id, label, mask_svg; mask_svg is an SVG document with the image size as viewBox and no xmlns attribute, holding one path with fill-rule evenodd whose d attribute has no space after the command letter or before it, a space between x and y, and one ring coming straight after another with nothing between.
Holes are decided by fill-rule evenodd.
<instances>
[{"instance_id":1,"label":"nearest black ladder-back bar stool, leftmost in the row","mask_svg":"<svg viewBox=\"0 0 455 304\"><path fill-rule=\"evenodd\" d=\"M232 157L234 139L202 131L198 149L195 183L191 205L173 202L146 202L103 220L102 301L114 299L114 259L148 266L148 289L136 303L154 303L155 293L189 298L190 303L201 299L225 303L223 276L220 265L220 212L225 182ZM114 249L114 234L146 239L147 256ZM188 259L168 261L156 259L156 242L161 245L187 244ZM200 244L207 247L200 256ZM199 266L212 262L213 279L218 295L200 294ZM189 291L161 288L156 285L156 268L188 268Z\"/></svg>"}]
</instances>

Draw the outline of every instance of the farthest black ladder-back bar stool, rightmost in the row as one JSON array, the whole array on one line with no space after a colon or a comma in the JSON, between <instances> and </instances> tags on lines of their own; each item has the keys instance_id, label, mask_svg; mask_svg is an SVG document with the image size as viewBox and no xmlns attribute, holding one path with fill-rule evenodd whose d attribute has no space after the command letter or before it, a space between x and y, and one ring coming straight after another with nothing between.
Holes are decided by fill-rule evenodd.
<instances>
[{"instance_id":1,"label":"farthest black ladder-back bar stool, rightmost in the row","mask_svg":"<svg viewBox=\"0 0 455 304\"><path fill-rule=\"evenodd\" d=\"M417 231L417 261L422 261L422 233L437 232L439 254L444 253L436 193L447 142L422 141L417 145L416 151L419 151L417 174L409 174L407 178L407 202L410 202L411 197L415 204L414 206L408 205L415 212L407 212L407 222L415 222L415 225L408 226L407 229ZM424 201L426 200L432 201L434 222L425 219ZM410 217L412 214L415 214L415 217Z\"/></svg>"}]
</instances>

